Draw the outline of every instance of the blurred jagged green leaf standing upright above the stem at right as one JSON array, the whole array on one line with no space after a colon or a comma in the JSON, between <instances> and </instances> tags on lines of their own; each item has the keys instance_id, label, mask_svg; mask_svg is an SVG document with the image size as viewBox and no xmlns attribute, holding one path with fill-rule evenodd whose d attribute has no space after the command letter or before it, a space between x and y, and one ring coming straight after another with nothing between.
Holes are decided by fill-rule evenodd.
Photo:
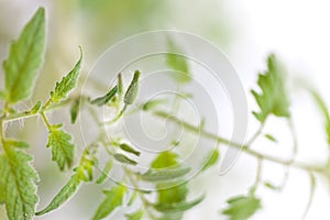
<instances>
[{"instance_id":1,"label":"blurred jagged green leaf standing upright above the stem at right","mask_svg":"<svg viewBox=\"0 0 330 220\"><path fill-rule=\"evenodd\" d=\"M276 117L289 118L289 99L285 81L284 68L275 55L270 55L267 59L268 69L262 75L258 75L257 84L262 94L252 90L258 107L260 112L253 112L255 118L264 123L270 114Z\"/></svg>"}]
</instances>

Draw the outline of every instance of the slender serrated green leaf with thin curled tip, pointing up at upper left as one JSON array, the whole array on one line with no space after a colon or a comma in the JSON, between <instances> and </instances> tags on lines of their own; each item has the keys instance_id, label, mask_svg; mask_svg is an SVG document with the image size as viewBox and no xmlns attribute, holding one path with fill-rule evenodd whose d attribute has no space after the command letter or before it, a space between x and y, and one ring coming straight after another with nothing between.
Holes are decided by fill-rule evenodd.
<instances>
[{"instance_id":1,"label":"slender serrated green leaf with thin curled tip, pointing up at upper left","mask_svg":"<svg viewBox=\"0 0 330 220\"><path fill-rule=\"evenodd\" d=\"M81 67L81 59L82 59L82 50L80 50L80 57L76 63L73 70L70 70L62 80L56 82L55 90L51 91L51 100L54 103L57 103L64 99L66 99L68 92L76 87L76 81L79 76L80 67Z\"/></svg>"}]
</instances>

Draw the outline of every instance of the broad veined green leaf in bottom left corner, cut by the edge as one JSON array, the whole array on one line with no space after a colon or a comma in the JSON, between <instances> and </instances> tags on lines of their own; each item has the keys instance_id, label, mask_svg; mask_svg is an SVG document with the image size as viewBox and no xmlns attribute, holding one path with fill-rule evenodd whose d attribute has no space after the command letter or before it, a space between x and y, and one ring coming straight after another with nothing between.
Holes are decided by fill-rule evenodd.
<instances>
[{"instance_id":1,"label":"broad veined green leaf in bottom left corner, cut by the edge","mask_svg":"<svg viewBox=\"0 0 330 220\"><path fill-rule=\"evenodd\" d=\"M0 201L6 204L9 220L30 220L37 204L36 170L31 166L32 156L14 150L10 143L3 145L0 154Z\"/></svg>"}]
</instances>

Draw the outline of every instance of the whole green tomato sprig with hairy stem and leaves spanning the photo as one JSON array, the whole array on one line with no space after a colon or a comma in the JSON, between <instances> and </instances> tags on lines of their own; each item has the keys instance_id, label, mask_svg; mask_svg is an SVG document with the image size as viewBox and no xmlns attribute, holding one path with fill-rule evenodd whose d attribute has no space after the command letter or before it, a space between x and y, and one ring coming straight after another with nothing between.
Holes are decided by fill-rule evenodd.
<instances>
[{"instance_id":1,"label":"whole green tomato sprig with hairy stem and leaves spanning the photo","mask_svg":"<svg viewBox=\"0 0 330 220\"><path fill-rule=\"evenodd\" d=\"M3 63L6 89L0 91L0 99L3 100L3 109L0 111L0 204L6 206L8 218L32 219L34 215L46 215L68 201L79 189L84 183L96 183L99 187L103 187L103 183L109 180L108 174L114 169L114 164L121 164L124 172L123 180L129 180L135 188L129 189L120 183L112 183L111 187L103 189L105 199L97 208L92 219L105 219L111 217L117 209L123 208L124 218L128 220L140 219L183 219L186 211L202 202L205 193L201 191L200 197L195 199L189 198L189 182L186 177L190 174L191 167L180 163L180 155L175 150L164 151L153 158L146 172L140 173L134 169L139 165L139 157L143 156L143 152L138 150L134 144L120 136L118 140L109 142L105 135L103 125L117 128L116 123L125 112L128 106L138 106L138 111L152 112L153 117L168 120L177 124L193 134L200 134L206 139L217 141L220 144L227 144L230 147L241 148L241 144L229 141L222 136L205 131L202 125L195 127L187 121L176 117L179 105L174 105L173 111L166 112L158 110L158 107L167 105L167 100L148 100L143 105L133 105L136 101L139 94L139 84L141 72L135 70L129 85L123 84L123 75L118 75L116 85L111 85L105 96L89 99L84 95L78 97L69 97L73 89L77 87L77 80L81 69L82 50L80 47L80 57L74 68L56 82L54 90L51 92L50 99L43 105L37 101L32 108L16 112L14 107L16 103L28 99L34 89L34 84L37 77L37 72L41 67L44 56L45 45L45 12L44 9L38 9L31 21L25 25L19 40L11 44L9 56ZM173 40L168 40L170 51L179 52L178 45ZM166 56L167 65L174 70L179 72L179 75L174 76L178 85L188 84L191 80L191 70L189 63L180 55L168 54ZM320 174L330 179L328 170L330 162L324 166L311 166L304 163L296 163L295 158L283 160L272 155L263 154L254 151L251 146L258 138L266 138L270 141L277 143L277 140L271 134L263 134L263 127L266 119L273 114L279 118L290 118L289 96L286 88L286 77L282 65L275 55L270 55L267 58L267 70L258 75L258 89L252 90L260 107L260 112L253 112L261 124L261 129L248 141L241 150L243 153L255 157L258 162L256 180L250 187L248 195L238 196L228 199L227 208L221 211L231 220L248 220L262 209L262 201L257 196L257 189L262 186L277 189L267 182L263 180L262 166L263 161L271 161L282 166L292 166L302 169L310 176L310 198L308 208L312 201L312 196L316 187L315 174ZM329 111L326 102L320 96L311 91L321 112L326 119L326 132L328 143L330 140ZM85 97L85 98L84 98ZM85 101L88 100L88 101ZM91 101L89 101L91 100ZM80 108L106 108L109 117L112 120L109 122L95 119L101 122L99 125L98 138L90 143L81 153L79 162L75 163L75 144L70 134L66 133L62 123L51 124L47 118L47 111L62 109L62 107L70 106L72 123L78 120ZM113 113L114 112L114 113ZM134 112L134 111L132 111ZM6 123L13 120L22 120L26 117L41 116L48 130L47 147L52 147L52 160L55 161L62 172L66 168L75 166L72 176L67 183L54 196L52 201L43 210L35 212L35 207L38 201L36 194L36 183L38 175L32 166L32 156L25 151L29 144L21 140L8 138ZM294 134L293 134L294 135ZM295 140L295 136L293 136ZM178 145L178 143L174 144ZM294 144L296 145L296 144ZM96 167L99 164L98 152L105 150L108 158L103 170L98 175ZM217 148L208 155L208 161L204 164L199 174L207 172L208 168L215 166L220 157L220 151ZM95 177L97 176L97 178ZM139 184L152 184L155 186L154 191L142 190ZM262 183L265 183L262 185ZM147 195L147 196L146 196ZM128 200L128 201L127 201ZM136 208L135 211L127 211L127 207Z\"/></svg>"}]
</instances>

